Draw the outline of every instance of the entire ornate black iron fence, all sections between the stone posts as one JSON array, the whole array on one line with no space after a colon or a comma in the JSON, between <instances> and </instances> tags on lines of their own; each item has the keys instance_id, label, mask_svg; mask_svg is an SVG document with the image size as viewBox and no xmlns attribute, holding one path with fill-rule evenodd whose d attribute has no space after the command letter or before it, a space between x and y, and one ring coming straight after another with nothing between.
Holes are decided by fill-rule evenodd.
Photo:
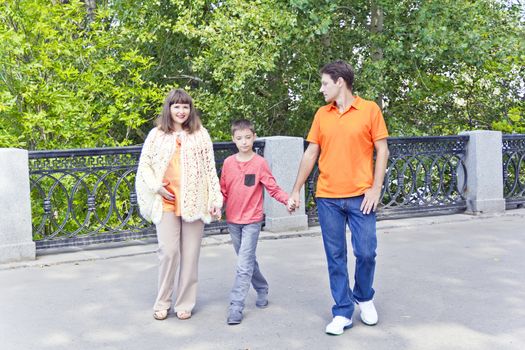
<instances>
[{"instance_id":1,"label":"entire ornate black iron fence, all sections between the stone posts","mask_svg":"<svg viewBox=\"0 0 525 350\"><path fill-rule=\"evenodd\" d=\"M523 135L504 139L512 141L507 146L504 143L507 203L523 203ZM389 138L390 158L378 217L464 211L467 142L468 136ZM264 141L257 141L255 148L263 154ZM134 182L140 150L123 147L30 152L37 248L154 236L154 227L137 208ZM224 159L235 152L235 145L219 142L214 150L220 174ZM317 220L317 175L316 169L306 184L306 207L312 223ZM224 222L216 222L206 226L206 234L224 229Z\"/></svg>"}]
</instances>

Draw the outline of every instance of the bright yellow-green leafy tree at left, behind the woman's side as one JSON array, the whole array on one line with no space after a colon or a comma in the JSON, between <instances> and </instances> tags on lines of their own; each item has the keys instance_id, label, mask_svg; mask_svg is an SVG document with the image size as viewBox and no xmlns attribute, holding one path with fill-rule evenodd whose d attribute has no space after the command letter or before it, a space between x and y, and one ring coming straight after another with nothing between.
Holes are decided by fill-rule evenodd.
<instances>
[{"instance_id":1,"label":"bright yellow-green leafy tree at left, behind the woman's side","mask_svg":"<svg viewBox=\"0 0 525 350\"><path fill-rule=\"evenodd\" d=\"M107 8L8 1L0 12L0 146L126 145L161 95Z\"/></svg>"}]
</instances>

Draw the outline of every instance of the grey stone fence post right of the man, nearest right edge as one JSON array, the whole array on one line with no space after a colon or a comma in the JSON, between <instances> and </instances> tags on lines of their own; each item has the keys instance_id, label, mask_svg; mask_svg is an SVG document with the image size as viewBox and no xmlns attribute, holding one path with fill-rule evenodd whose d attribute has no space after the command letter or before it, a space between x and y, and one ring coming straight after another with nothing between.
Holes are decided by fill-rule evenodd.
<instances>
[{"instance_id":1,"label":"grey stone fence post right of the man, nearest right edge","mask_svg":"<svg viewBox=\"0 0 525 350\"><path fill-rule=\"evenodd\" d=\"M467 211L471 213L505 211L501 132L475 130L461 134L469 135L465 162Z\"/></svg>"}]
</instances>

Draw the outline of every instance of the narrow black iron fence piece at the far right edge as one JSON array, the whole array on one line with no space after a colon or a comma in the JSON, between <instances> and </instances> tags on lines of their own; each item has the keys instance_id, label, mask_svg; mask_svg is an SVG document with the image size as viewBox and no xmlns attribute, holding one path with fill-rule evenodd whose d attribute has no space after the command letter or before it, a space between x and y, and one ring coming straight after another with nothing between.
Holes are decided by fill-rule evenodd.
<instances>
[{"instance_id":1,"label":"narrow black iron fence piece at the far right edge","mask_svg":"<svg viewBox=\"0 0 525 350\"><path fill-rule=\"evenodd\" d=\"M525 204L525 135L503 135L503 196L506 207Z\"/></svg>"}]
</instances>

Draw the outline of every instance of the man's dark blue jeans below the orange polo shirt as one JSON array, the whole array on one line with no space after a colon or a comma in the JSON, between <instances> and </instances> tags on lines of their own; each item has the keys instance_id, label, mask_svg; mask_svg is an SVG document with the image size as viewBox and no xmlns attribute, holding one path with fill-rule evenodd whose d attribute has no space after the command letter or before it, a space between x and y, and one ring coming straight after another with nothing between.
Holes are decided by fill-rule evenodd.
<instances>
[{"instance_id":1,"label":"man's dark blue jeans below the orange polo shirt","mask_svg":"<svg viewBox=\"0 0 525 350\"><path fill-rule=\"evenodd\" d=\"M330 289L335 305L332 315L352 318L354 302L372 300L377 248L376 215L363 214L364 196L317 198L317 213L328 262ZM354 290L350 289L347 266L346 225L350 228L356 257Z\"/></svg>"}]
</instances>

